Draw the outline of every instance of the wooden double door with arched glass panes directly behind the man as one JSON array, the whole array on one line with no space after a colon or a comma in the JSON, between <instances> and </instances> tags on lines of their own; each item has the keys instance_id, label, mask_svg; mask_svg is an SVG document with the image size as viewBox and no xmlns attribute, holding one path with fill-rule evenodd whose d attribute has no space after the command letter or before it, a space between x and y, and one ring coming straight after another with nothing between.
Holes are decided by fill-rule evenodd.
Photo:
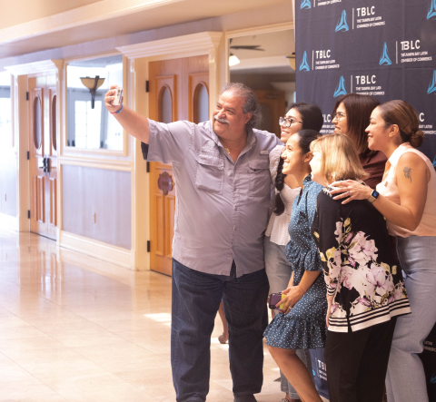
<instances>
[{"instance_id":1,"label":"wooden double door with arched glass panes directly behind the man","mask_svg":"<svg viewBox=\"0 0 436 402\"><path fill-rule=\"evenodd\" d=\"M149 81L151 119L200 123L209 118L204 112L209 110L206 55L151 62ZM172 272L176 185L171 164L150 163L150 263L152 270L166 275Z\"/></svg>"}]
</instances>

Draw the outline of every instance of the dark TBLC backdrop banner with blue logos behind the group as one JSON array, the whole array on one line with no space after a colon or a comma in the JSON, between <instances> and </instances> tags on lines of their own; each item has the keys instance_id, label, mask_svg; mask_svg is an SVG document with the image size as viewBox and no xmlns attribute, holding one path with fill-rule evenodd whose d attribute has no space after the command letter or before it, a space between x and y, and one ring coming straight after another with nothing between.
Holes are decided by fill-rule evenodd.
<instances>
[{"instance_id":1,"label":"dark TBLC backdrop banner with blue logos behind the group","mask_svg":"<svg viewBox=\"0 0 436 402\"><path fill-rule=\"evenodd\" d=\"M298 102L322 109L322 133L346 93L411 103L436 166L436 0L296 0Z\"/></svg>"}]
</instances>

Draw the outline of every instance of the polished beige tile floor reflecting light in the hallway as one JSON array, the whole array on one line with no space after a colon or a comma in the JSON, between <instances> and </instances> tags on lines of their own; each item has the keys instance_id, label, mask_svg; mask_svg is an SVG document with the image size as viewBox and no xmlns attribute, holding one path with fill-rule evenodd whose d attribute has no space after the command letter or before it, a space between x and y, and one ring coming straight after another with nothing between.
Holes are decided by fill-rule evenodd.
<instances>
[{"instance_id":1,"label":"polished beige tile floor reflecting light in the hallway","mask_svg":"<svg viewBox=\"0 0 436 402\"><path fill-rule=\"evenodd\" d=\"M0 401L174 401L171 279L0 229ZM233 401L228 347L212 338L208 402ZM265 348L259 402L279 402Z\"/></svg>"}]
</instances>

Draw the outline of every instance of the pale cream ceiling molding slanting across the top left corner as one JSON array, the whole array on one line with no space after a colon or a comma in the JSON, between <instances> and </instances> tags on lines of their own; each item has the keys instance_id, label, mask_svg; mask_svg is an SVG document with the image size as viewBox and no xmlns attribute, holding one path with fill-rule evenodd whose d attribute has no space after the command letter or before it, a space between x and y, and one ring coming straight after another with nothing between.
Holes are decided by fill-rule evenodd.
<instances>
[{"instance_id":1,"label":"pale cream ceiling molding slanting across the top left corner","mask_svg":"<svg viewBox=\"0 0 436 402\"><path fill-rule=\"evenodd\" d=\"M55 15L0 30L0 44L10 44L42 34L93 24L115 16L129 15L182 0L102 0Z\"/></svg>"}]
</instances>

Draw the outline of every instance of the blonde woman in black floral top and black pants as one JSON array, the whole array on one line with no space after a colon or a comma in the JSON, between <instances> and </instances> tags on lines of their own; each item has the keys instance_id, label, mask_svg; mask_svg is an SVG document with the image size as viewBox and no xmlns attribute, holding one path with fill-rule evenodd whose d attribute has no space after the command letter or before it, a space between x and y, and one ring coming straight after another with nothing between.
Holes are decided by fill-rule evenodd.
<instances>
[{"instance_id":1,"label":"blonde woman in black floral top and black pants","mask_svg":"<svg viewBox=\"0 0 436 402\"><path fill-rule=\"evenodd\" d=\"M381 213L368 201L342 205L330 193L333 181L368 176L350 138L325 135L311 150L313 181L324 186L312 236L327 284L330 401L381 402L396 317L411 311L401 268Z\"/></svg>"}]
</instances>

